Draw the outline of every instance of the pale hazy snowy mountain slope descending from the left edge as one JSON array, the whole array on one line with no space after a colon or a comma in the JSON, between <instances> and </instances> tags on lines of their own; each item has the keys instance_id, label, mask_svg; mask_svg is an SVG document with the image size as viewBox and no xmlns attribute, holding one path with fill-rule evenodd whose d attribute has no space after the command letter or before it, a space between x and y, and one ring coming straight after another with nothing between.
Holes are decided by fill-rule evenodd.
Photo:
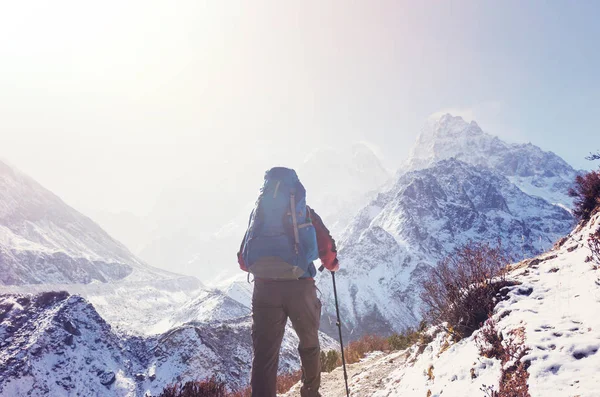
<instances>
[{"instance_id":1,"label":"pale hazy snowy mountain slope descending from the left edge","mask_svg":"<svg viewBox=\"0 0 600 397\"><path fill-rule=\"evenodd\" d=\"M172 277L147 266L96 223L0 162L0 285Z\"/></svg>"}]
</instances>

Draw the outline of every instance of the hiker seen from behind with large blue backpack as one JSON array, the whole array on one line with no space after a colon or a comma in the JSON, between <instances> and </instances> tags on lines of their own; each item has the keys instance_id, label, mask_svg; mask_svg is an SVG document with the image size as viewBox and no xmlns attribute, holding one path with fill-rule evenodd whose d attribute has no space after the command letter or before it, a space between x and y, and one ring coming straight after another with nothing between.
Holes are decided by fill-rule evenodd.
<instances>
[{"instance_id":1,"label":"hiker seen from behind with large blue backpack","mask_svg":"<svg viewBox=\"0 0 600 397\"><path fill-rule=\"evenodd\" d=\"M252 397L275 397L279 349L287 319L300 339L302 397L319 397L321 362L313 261L339 269L335 241L317 213L306 205L306 191L296 172L276 167L250 215L238 263L254 275L252 295Z\"/></svg>"}]
</instances>

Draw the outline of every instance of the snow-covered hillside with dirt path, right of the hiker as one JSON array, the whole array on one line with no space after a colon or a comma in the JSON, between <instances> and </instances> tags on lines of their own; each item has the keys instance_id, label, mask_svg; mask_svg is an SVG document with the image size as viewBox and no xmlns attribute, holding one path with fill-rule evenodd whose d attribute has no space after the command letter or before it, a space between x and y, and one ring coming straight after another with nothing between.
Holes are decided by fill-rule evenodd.
<instances>
[{"instance_id":1,"label":"snow-covered hillside with dirt path, right of the hiker","mask_svg":"<svg viewBox=\"0 0 600 397\"><path fill-rule=\"evenodd\" d=\"M525 331L532 397L600 396L600 269L586 259L587 238L598 228L600 213L560 247L511 267L509 277L521 284L510 287L493 318L505 340L512 330ZM452 343L439 332L424 350L373 354L350 365L351 395L485 396L483 385L497 391L502 365L479 354L480 333ZM341 369L324 374L322 394L345 395Z\"/></svg>"}]
</instances>

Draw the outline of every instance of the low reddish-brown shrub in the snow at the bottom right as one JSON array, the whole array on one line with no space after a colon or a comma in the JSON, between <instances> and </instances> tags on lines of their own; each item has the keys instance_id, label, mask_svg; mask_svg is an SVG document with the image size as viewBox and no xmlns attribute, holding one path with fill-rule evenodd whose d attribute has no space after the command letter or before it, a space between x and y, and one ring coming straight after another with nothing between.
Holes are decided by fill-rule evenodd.
<instances>
[{"instance_id":1,"label":"low reddish-brown shrub in the snow at the bottom right","mask_svg":"<svg viewBox=\"0 0 600 397\"><path fill-rule=\"evenodd\" d=\"M498 359L502 363L500 388L494 391L493 387L484 385L481 390L489 397L531 397L527 385L529 362L523 361L523 357L529 352L524 344L525 329L514 329L503 338L496 326L494 320L488 320L476 342L479 354Z\"/></svg>"}]
</instances>

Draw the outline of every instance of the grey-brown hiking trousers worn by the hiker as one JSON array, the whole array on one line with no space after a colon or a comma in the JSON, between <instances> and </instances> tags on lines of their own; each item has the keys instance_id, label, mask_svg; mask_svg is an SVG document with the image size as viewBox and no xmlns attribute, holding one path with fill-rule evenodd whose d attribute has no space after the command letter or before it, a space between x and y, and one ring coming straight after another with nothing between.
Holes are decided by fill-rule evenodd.
<instances>
[{"instance_id":1,"label":"grey-brown hiking trousers worn by the hiker","mask_svg":"<svg viewBox=\"0 0 600 397\"><path fill-rule=\"evenodd\" d=\"M318 397L321 384L321 301L312 279L256 279L252 296L252 397L276 397L279 349L287 319L300 339L302 397Z\"/></svg>"}]
</instances>

